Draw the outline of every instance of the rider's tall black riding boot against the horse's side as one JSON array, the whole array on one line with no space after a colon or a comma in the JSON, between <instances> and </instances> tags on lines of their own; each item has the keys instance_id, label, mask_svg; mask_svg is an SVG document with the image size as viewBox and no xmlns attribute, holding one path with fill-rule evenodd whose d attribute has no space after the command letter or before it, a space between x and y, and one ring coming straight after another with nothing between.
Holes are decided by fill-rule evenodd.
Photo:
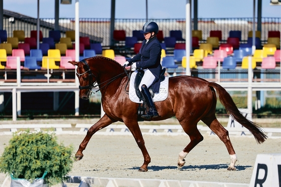
<instances>
[{"instance_id":1,"label":"rider's tall black riding boot against the horse's side","mask_svg":"<svg viewBox=\"0 0 281 187\"><path fill-rule=\"evenodd\" d=\"M157 112L154 102L152 100L150 91L146 85L142 85L142 94L149 107L149 111L147 112L146 115L143 115L142 118L149 119L151 117L158 117L159 116L158 112Z\"/></svg>"}]
</instances>

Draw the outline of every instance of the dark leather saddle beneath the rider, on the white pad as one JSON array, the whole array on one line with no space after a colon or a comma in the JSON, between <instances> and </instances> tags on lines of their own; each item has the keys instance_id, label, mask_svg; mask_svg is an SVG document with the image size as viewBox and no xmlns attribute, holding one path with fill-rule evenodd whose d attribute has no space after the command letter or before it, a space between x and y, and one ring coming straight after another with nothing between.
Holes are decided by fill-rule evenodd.
<instances>
[{"instance_id":1,"label":"dark leather saddle beneath the rider, on the white pad","mask_svg":"<svg viewBox=\"0 0 281 187\"><path fill-rule=\"evenodd\" d=\"M139 87L139 84L140 84L141 81L142 81L142 78L144 77L145 72L144 72L144 70L138 70L137 72L138 72L138 73L136 74L135 79L134 79L134 90L135 90L136 96L137 96L140 100L143 100L143 101L144 101L143 95L142 95L141 91L138 89L138 87ZM161 70L161 73L160 73L160 82L162 82L162 81L165 80L165 72L166 72L166 68L163 68L163 69ZM152 96L152 98L153 98L153 97L154 97L154 92L153 92L151 86L149 87L149 91L150 91L150 94L151 94L151 96Z\"/></svg>"}]
</instances>

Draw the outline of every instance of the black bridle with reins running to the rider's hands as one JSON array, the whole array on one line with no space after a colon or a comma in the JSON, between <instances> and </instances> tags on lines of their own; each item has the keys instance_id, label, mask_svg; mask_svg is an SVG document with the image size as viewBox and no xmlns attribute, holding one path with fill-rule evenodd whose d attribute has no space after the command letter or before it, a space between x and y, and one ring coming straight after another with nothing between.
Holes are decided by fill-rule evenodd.
<instances>
[{"instance_id":1,"label":"black bridle with reins running to the rider's hands","mask_svg":"<svg viewBox=\"0 0 281 187\"><path fill-rule=\"evenodd\" d=\"M97 81L93 82L93 77L94 77L94 78L97 78L97 77L92 73L92 71L91 71L91 69L90 69L88 63L86 62L86 60L83 59L83 60L81 60L80 62L82 62L83 64L85 64L85 65L87 66L88 70L85 71L85 72L83 72L83 73L81 73L81 74L77 73L77 71L76 71L76 75L81 76L81 75L84 75L84 74L88 73L89 84L88 84L87 86L80 86L80 85L79 85L79 89L80 89L80 90L88 89L88 90L89 90L91 93L93 93L93 94L95 94L96 92L100 91L100 90L101 90L102 88L104 88L106 85L110 84L112 81L114 81L115 79L117 79L120 75L122 75L122 74L124 74L124 73L127 74L127 70L126 70L126 71L124 71L123 73L120 73L119 75L117 75L117 76L115 76L115 77L112 77L111 79L109 79L109 80L107 80L107 81L104 81L103 83L96 84ZM128 74L127 74L127 75L128 75ZM107 82L107 83L106 83L106 82ZM99 85L104 84L104 83L106 83L106 84L105 84L103 87L99 88L99 89L98 89L97 91L95 91L95 92L92 91L93 88L96 88L96 87L98 87ZM96 85L95 85L95 84L96 84Z\"/></svg>"}]
</instances>

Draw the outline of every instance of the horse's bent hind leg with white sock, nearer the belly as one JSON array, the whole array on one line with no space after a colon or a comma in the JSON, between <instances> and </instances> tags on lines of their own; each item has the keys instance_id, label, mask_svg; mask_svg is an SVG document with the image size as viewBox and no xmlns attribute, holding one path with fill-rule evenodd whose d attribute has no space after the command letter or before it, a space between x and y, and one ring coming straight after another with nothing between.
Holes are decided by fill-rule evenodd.
<instances>
[{"instance_id":1,"label":"horse's bent hind leg with white sock, nearer the belly","mask_svg":"<svg viewBox=\"0 0 281 187\"><path fill-rule=\"evenodd\" d=\"M183 130L189 135L190 142L189 144L179 153L178 158L178 168L181 169L185 164L185 157L187 154L199 143L203 140L203 136L197 129L197 123L190 124L190 123L183 123L180 122L183 127ZM188 124L188 125L186 125Z\"/></svg>"}]
</instances>

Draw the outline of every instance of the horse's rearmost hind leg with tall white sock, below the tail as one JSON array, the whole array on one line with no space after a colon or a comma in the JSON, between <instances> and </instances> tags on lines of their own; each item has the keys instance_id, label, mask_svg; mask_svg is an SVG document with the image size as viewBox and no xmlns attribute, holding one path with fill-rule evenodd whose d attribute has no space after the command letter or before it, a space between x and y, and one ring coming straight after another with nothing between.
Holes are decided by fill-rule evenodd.
<instances>
[{"instance_id":1,"label":"horse's rearmost hind leg with tall white sock, below the tail","mask_svg":"<svg viewBox=\"0 0 281 187\"><path fill-rule=\"evenodd\" d=\"M237 156L235 154L234 148L230 141L228 131L220 124L220 122L214 118L210 119L202 119L202 121L210 127L210 129L220 138L220 140L225 144L227 151L230 155L230 165L227 170L236 170L235 163L237 161Z\"/></svg>"}]
</instances>

